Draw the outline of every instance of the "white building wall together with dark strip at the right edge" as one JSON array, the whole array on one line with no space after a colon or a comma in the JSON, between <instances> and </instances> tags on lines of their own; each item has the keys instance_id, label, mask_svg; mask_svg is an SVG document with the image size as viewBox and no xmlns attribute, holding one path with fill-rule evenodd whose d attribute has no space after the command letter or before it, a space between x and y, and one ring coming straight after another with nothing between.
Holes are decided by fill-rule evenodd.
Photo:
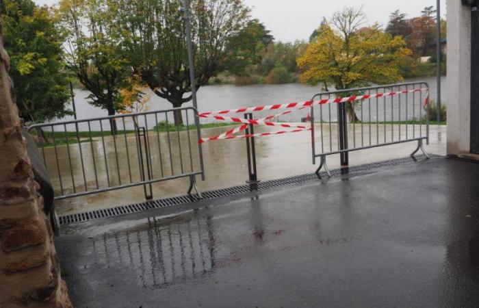
<instances>
[{"instance_id":1,"label":"white building wall together with dark strip at the right edge","mask_svg":"<svg viewBox=\"0 0 479 308\"><path fill-rule=\"evenodd\" d=\"M478 8L479 0L447 0L449 155L479 157Z\"/></svg>"}]
</instances>

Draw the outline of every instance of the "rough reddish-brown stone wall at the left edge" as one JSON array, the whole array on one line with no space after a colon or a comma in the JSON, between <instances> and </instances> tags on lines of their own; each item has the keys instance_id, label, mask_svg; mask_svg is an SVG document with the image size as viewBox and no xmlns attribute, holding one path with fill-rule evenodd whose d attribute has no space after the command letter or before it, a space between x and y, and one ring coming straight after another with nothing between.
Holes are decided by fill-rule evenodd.
<instances>
[{"instance_id":1,"label":"rough reddish-brown stone wall at the left edge","mask_svg":"<svg viewBox=\"0 0 479 308\"><path fill-rule=\"evenodd\" d=\"M7 72L0 20L0 307L72 307Z\"/></svg>"}]
</instances>

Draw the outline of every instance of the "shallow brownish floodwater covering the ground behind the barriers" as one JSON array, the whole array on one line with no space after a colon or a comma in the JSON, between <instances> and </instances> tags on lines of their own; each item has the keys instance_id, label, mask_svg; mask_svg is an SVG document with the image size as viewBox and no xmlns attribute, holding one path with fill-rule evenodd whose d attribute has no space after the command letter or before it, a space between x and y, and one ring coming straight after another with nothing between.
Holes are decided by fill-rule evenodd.
<instances>
[{"instance_id":1,"label":"shallow brownish floodwater covering the ground behind the barriers","mask_svg":"<svg viewBox=\"0 0 479 308\"><path fill-rule=\"evenodd\" d=\"M318 125L317 125L318 126ZM372 134L369 133L368 125L364 125L364 129L361 125L356 125L356 129L349 129L350 136L349 142L351 146L353 144L368 146L375 144L376 141L383 142L384 136L387 136L387 142L391 141L391 127L380 126L379 136L376 136L375 127L372 127ZM419 127L415 125L415 136L418 136ZM214 129L204 129L203 136L215 136L223 133L228 128L218 127ZM268 127L258 127L256 130L263 131ZM271 130L271 129L270 129ZM274 128L272 129L274 130ZM317 133L320 133L319 127L316 128ZM425 127L422 127L423 132ZM353 132L355 131L355 135ZM361 134L363 132L363 135ZM184 133L184 132L183 132ZM324 125L324 144L325 151L328 149L337 149L337 142L333 138L333 143L329 142L329 134L327 125ZM337 135L337 131L333 129L333 136ZM402 140L406 139L406 126L402 125L402 129L399 132L398 125L394 128L394 140L401 136ZM413 136L413 125L409 125L409 138ZM155 136L152 136L154 139ZM317 136L317 142L319 135ZM376 138L379 137L379 140ZM131 138L134 138L131 136ZM122 149L122 138L118 140L118 149ZM182 140L186 140L183 136ZM430 125L430 144L425 145L426 151L431 154L445 155L445 140L446 140L446 127ZM107 140L111 142L111 140ZM155 140L152 140L152 144L155 144ZM256 138L256 155L257 155L257 174L258 179L265 181L271 179L280 179L283 177L292 177L304 173L313 172L319 165L320 159L317 159L316 166L312 164L311 158L311 133L308 131L302 133L289 133L281 136ZM134 143L131 144L133 146ZM86 148L83 149L85 153L89 153L88 144L83 144ZM319 153L321 144L317 143L317 151ZM396 159L401 157L407 157L411 154L417 146L417 142L408 142L404 144L394 144L391 146L382 146L375 149L366 149L362 151L354 151L350 153L350 166L359 166L362 164L370 164L387 159ZM185 149L185 148L184 148ZM48 149L53 151L53 148ZM135 151L134 149L131 151ZM64 151L66 153L66 151ZM48 154L48 153L47 153ZM114 153L111 159L114 159ZM177 155L178 153L174 153ZM183 153L185 154L185 153ZM50 157L52 158L52 153ZM76 157L75 161L79 159L79 153L73 151L72 155ZM120 153L120 155L126 155ZM203 157L205 159L205 175L206 181L200 181L198 177L198 186L201 191L216 190L219 188L228 188L234 185L244 185L248 179L248 165L246 159L246 142L245 140L221 140L216 142L207 142L203 145ZM327 158L328 167L339 168L339 155L330 155ZM185 160L186 162L187 160ZM112 160L114 162L114 160ZM53 162L48 164L53 166ZM114 164L112 164L114 165ZM65 167L68 164L65 162ZM79 190L83 189L81 184L81 165L77 164L75 169L75 175L77 176L77 185ZM91 166L91 163L90 163ZM114 167L114 166L110 166ZM123 166L125 167L125 166ZM177 168L176 166L175 168ZM155 168L158 168L155 165ZM50 170L52 181L57 181L57 172ZM68 177L68 170L66 177ZM133 168L135 172L135 168ZM138 170L136 170L138 172ZM116 174L115 170L112 170L112 174ZM91 175L91 174L90 174ZM100 172L98 177L101 181L106 181L105 172ZM56 183L56 182L55 182ZM172 181L164 181L161 183L153 184L153 196L154 198L168 198L171 196L182 196L186 194L187 188L190 182L187 178L176 179ZM55 184L57 185L57 184ZM65 182L64 185L68 185ZM118 194L121 194L121 198L118 198ZM116 207L118 205L130 205L144 201L143 187L127 188L112 192L103 192L101 194L94 194L89 196L81 196L77 198L70 198L66 200L60 200L55 202L57 213L60 215L68 215L91 211L94 209L105 209L110 207Z\"/></svg>"}]
</instances>

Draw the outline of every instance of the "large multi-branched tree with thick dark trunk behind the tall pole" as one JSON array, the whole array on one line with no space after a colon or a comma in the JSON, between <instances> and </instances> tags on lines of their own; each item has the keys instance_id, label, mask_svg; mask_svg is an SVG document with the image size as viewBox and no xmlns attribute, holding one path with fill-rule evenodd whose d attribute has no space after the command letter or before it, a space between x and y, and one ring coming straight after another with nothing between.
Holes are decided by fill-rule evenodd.
<instances>
[{"instance_id":1,"label":"large multi-branched tree with thick dark trunk behind the tall pole","mask_svg":"<svg viewBox=\"0 0 479 308\"><path fill-rule=\"evenodd\" d=\"M178 0L118 1L118 24L129 61L157 96L173 107L192 99L185 21ZM250 10L241 0L194 0L190 22L196 88L207 85L227 63L226 46L248 23ZM174 122L183 123L181 112Z\"/></svg>"}]
</instances>

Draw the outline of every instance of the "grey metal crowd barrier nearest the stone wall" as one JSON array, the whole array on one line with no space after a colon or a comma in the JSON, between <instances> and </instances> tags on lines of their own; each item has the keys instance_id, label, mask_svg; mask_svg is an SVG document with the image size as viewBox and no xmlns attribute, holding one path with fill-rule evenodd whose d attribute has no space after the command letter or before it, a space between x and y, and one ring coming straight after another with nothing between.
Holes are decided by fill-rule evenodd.
<instances>
[{"instance_id":1,"label":"grey metal crowd barrier nearest the stone wall","mask_svg":"<svg viewBox=\"0 0 479 308\"><path fill-rule=\"evenodd\" d=\"M185 125L172 119L181 113ZM193 107L68 120L28 127L52 178L55 200L152 183L205 179L198 112Z\"/></svg>"}]
</instances>

